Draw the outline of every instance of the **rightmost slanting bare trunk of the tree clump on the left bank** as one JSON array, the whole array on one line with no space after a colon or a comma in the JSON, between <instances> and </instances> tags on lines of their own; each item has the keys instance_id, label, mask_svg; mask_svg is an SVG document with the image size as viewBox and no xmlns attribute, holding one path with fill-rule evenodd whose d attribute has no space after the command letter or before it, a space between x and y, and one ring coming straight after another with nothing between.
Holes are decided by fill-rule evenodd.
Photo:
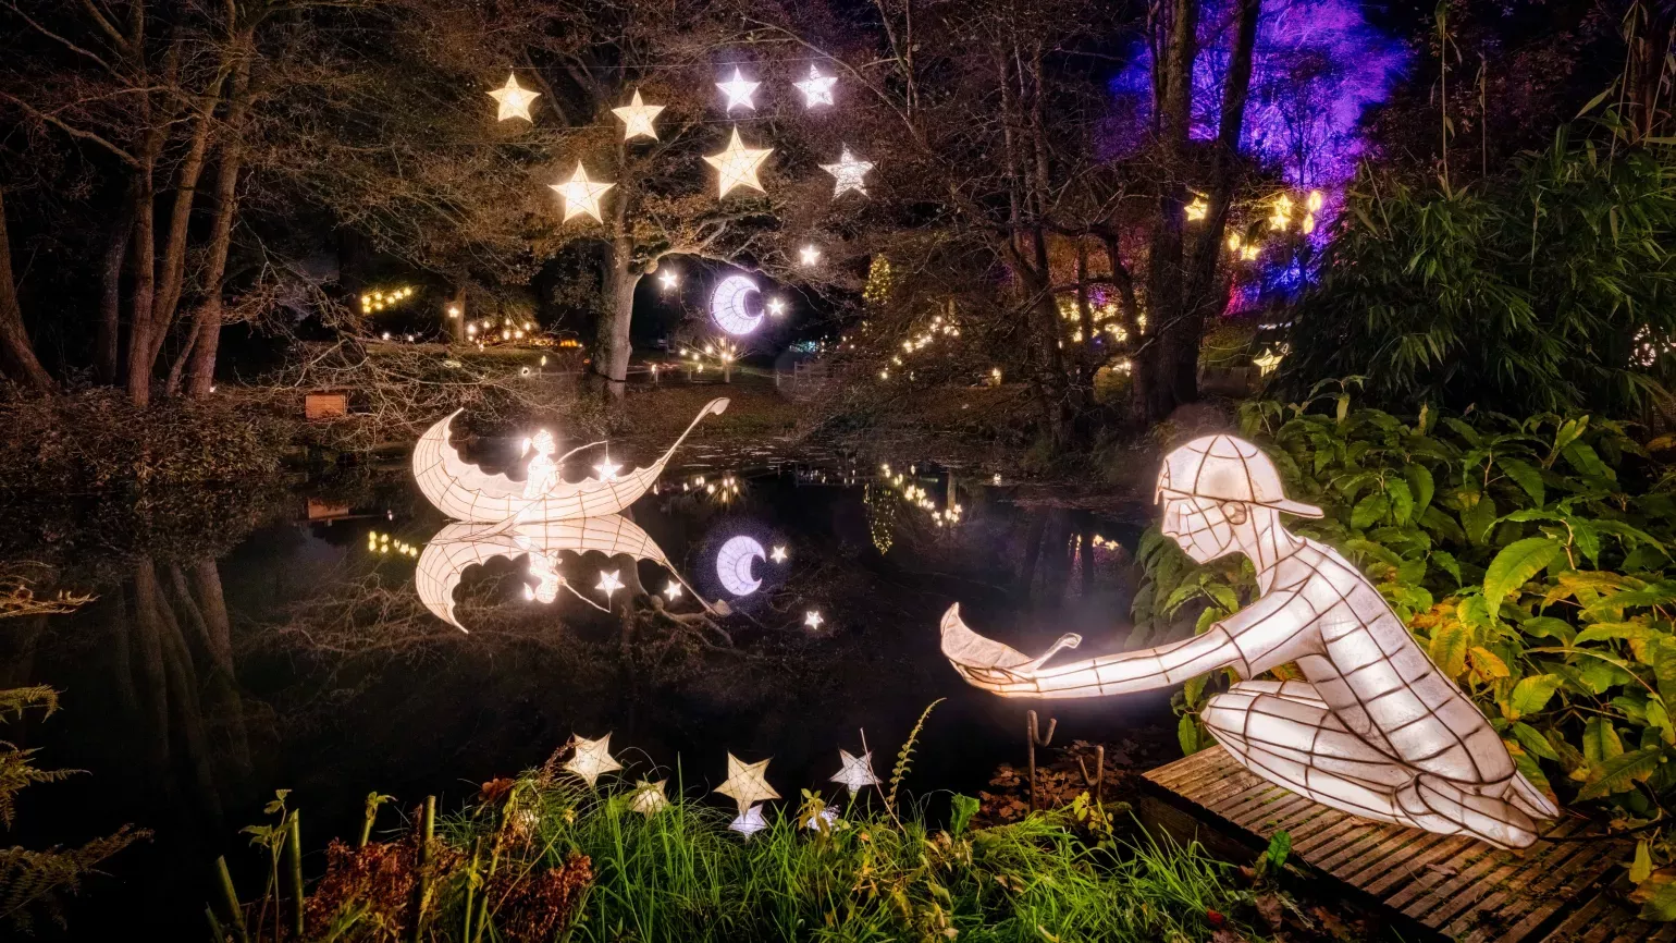
<instances>
[{"instance_id":1,"label":"rightmost slanting bare trunk of the tree clump on the left bank","mask_svg":"<svg viewBox=\"0 0 1676 943\"><path fill-rule=\"evenodd\" d=\"M228 91L226 128L221 161L215 178L215 223L210 227L210 265L204 272L204 300L193 315L191 366L186 371L186 394L210 396L215 386L215 357L221 347L221 292L226 282L226 255L233 245L233 220L238 216L238 173L245 163L245 119L250 114L250 67L255 55L255 27L246 27L238 40L233 87ZM181 354L183 357L186 352Z\"/></svg>"}]
</instances>

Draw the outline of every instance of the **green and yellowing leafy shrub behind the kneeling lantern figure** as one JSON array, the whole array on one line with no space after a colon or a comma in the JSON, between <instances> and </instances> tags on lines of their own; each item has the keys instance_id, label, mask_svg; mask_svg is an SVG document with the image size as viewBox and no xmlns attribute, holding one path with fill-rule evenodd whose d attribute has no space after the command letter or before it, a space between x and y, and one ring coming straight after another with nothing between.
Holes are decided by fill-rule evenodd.
<instances>
[{"instance_id":1,"label":"green and yellowing leafy shrub behind the kneeling lantern figure","mask_svg":"<svg viewBox=\"0 0 1676 943\"><path fill-rule=\"evenodd\" d=\"M1663 821L1676 797L1676 500L1629 430L1584 414L1415 421L1353 408L1348 388L1242 408L1244 433L1319 505L1289 527L1363 567L1431 659L1502 733L1518 768L1619 827ZM1133 643L1212 623L1257 596L1242 559L1197 565L1150 530ZM1279 676L1296 676L1289 668ZM1220 678L1178 695L1182 745ZM1649 861L1676 842L1649 831ZM1651 867L1649 867L1651 871ZM1642 874L1644 878L1644 874Z\"/></svg>"}]
</instances>

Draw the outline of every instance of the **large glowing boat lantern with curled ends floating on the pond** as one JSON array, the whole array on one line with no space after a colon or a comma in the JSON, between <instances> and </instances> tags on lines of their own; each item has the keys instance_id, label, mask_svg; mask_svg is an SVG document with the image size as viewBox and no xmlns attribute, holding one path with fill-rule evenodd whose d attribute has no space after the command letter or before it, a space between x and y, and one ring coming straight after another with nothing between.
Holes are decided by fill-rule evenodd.
<instances>
[{"instance_id":1,"label":"large glowing boat lantern with curled ends floating on the pond","mask_svg":"<svg viewBox=\"0 0 1676 943\"><path fill-rule=\"evenodd\" d=\"M530 482L515 482L506 475L489 475L459 456L449 441L449 423L461 409L426 430L414 446L414 482L424 497L442 513L469 522L499 524L520 520L561 520L570 517L600 517L617 513L640 498L664 473L675 450L692 433L701 419L721 414L727 399L712 399L694 416L680 438L657 461L628 475L595 475L580 482L565 482L548 451L536 450L531 458L531 480L541 485L533 493Z\"/></svg>"}]
</instances>

